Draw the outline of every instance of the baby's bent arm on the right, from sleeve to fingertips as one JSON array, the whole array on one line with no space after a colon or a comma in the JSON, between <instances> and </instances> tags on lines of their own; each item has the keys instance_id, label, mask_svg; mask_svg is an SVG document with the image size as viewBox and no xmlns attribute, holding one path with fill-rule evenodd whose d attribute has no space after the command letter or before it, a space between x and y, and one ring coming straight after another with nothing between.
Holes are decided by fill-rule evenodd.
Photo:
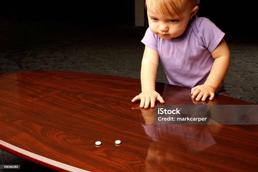
<instances>
[{"instance_id":1,"label":"baby's bent arm on the right, from sleeve to fingertips","mask_svg":"<svg viewBox=\"0 0 258 172\"><path fill-rule=\"evenodd\" d=\"M205 101L208 96L210 96L209 100L214 98L215 90L219 88L230 65L230 51L224 39L211 54L215 60L207 80L203 85L197 85L191 90L192 98L197 96L197 101L200 99Z\"/></svg>"}]
</instances>

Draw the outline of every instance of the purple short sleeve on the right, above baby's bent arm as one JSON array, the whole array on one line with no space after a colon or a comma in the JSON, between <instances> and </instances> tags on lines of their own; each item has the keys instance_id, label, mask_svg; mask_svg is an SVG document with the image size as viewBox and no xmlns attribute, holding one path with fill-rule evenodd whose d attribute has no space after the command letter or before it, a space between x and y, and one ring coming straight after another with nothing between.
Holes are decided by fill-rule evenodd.
<instances>
[{"instance_id":1,"label":"purple short sleeve on the right, above baby's bent arm","mask_svg":"<svg viewBox=\"0 0 258 172\"><path fill-rule=\"evenodd\" d=\"M224 33L209 19L203 18L198 30L198 41L209 52L215 50L224 37Z\"/></svg>"}]
</instances>

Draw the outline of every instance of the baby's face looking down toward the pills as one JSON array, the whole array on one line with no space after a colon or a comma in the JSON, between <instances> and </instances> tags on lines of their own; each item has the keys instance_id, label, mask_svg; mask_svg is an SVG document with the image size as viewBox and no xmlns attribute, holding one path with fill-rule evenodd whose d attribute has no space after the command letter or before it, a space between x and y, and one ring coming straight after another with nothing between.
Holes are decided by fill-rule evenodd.
<instances>
[{"instance_id":1,"label":"baby's face looking down toward the pills","mask_svg":"<svg viewBox=\"0 0 258 172\"><path fill-rule=\"evenodd\" d=\"M192 12L190 4L181 5L181 17L177 15L171 17L170 15L158 13L150 6L149 1L146 1L146 5L150 30L160 38L175 38L182 35L186 30Z\"/></svg>"}]
</instances>

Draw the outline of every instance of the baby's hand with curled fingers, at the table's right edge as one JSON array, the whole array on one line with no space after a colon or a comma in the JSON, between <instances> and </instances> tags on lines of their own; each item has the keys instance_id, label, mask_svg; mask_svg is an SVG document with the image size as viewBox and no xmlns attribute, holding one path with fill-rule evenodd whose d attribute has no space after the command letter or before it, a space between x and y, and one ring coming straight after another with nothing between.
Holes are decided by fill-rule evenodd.
<instances>
[{"instance_id":1,"label":"baby's hand with curled fingers, at the table's right edge","mask_svg":"<svg viewBox=\"0 0 258 172\"><path fill-rule=\"evenodd\" d=\"M191 89L192 98L195 98L197 101L205 101L207 97L210 97L209 100L212 100L215 96L215 89L208 85L197 85Z\"/></svg>"}]
</instances>

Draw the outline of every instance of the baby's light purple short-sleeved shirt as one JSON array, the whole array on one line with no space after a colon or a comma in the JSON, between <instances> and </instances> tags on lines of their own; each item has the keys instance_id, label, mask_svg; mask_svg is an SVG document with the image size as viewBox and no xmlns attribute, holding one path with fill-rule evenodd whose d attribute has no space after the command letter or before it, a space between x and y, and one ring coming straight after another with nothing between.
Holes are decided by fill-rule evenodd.
<instances>
[{"instance_id":1,"label":"baby's light purple short-sleeved shirt","mask_svg":"<svg viewBox=\"0 0 258 172\"><path fill-rule=\"evenodd\" d=\"M166 40L148 28L141 42L158 51L170 84L192 88L206 81L214 62L211 52L224 35L209 19L195 15L181 36ZM224 81L215 93L227 94Z\"/></svg>"}]
</instances>

